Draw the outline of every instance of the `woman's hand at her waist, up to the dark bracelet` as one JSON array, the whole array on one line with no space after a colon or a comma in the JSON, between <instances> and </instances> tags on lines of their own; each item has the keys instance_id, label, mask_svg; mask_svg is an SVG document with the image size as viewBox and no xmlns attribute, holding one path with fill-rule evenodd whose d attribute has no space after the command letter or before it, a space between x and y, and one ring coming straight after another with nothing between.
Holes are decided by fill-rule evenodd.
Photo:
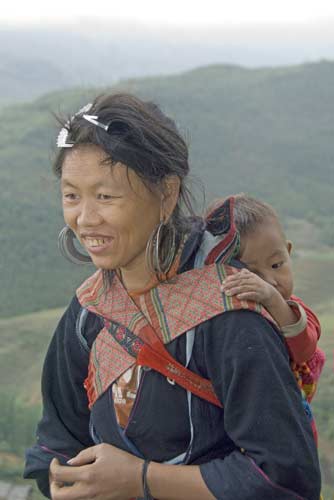
<instances>
[{"instance_id":1,"label":"woman's hand at her waist, up to the dark bracelet","mask_svg":"<svg viewBox=\"0 0 334 500\"><path fill-rule=\"evenodd\" d=\"M143 461L109 444L81 451L68 466L50 464L53 500L129 500L143 495Z\"/></svg>"}]
</instances>

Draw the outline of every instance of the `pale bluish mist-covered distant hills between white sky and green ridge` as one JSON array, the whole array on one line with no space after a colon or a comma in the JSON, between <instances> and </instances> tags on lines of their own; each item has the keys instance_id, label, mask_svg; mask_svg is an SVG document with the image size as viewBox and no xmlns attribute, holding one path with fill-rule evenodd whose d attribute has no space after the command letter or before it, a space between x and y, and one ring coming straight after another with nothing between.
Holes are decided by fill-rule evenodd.
<instances>
[{"instance_id":1,"label":"pale bluish mist-covered distant hills between white sky and green ridge","mask_svg":"<svg viewBox=\"0 0 334 500\"><path fill-rule=\"evenodd\" d=\"M334 20L310 25L173 27L81 18L0 25L0 105L72 86L111 85L210 64L334 59Z\"/></svg>"}]
</instances>

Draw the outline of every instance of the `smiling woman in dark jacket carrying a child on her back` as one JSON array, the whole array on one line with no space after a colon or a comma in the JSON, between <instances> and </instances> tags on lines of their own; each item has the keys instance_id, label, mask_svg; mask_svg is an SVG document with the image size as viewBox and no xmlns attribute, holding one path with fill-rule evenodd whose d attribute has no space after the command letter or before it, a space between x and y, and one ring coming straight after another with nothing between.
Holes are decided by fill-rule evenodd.
<instances>
[{"instance_id":1,"label":"smiling woman in dark jacket carrying a child on her back","mask_svg":"<svg viewBox=\"0 0 334 500\"><path fill-rule=\"evenodd\" d=\"M233 221L205 230L183 214L188 151L174 123L105 96L65 124L58 147L61 248L87 260L75 235L98 271L49 347L25 477L55 500L318 500L281 336L219 291Z\"/></svg>"}]
</instances>

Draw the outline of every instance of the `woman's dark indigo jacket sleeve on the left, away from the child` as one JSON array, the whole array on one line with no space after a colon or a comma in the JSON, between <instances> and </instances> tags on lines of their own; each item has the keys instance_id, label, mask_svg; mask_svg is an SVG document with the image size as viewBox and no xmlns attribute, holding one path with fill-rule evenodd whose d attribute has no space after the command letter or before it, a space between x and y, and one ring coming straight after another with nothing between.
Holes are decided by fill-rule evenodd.
<instances>
[{"instance_id":1,"label":"woman's dark indigo jacket sleeve on the left, away from the child","mask_svg":"<svg viewBox=\"0 0 334 500\"><path fill-rule=\"evenodd\" d=\"M81 306L75 297L61 318L43 367L43 416L37 442L26 452L25 478L35 478L49 497L48 470L53 457L61 463L94 445L89 434L88 400L83 383L87 376L90 339L78 332ZM98 318L85 318L88 337L99 331ZM88 340L88 342L87 342Z\"/></svg>"}]
</instances>

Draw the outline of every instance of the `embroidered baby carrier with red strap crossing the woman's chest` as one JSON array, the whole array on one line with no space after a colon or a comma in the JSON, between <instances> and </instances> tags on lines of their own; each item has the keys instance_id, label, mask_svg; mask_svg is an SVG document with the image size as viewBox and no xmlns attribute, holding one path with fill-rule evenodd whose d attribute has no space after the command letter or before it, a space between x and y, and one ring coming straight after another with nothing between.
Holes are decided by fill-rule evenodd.
<instances>
[{"instance_id":1,"label":"embroidered baby carrier with red strap crossing the woman's chest","mask_svg":"<svg viewBox=\"0 0 334 500\"><path fill-rule=\"evenodd\" d=\"M233 197L211 214L207 229L195 268L142 294L140 307L133 302L116 274L108 291L100 270L77 290L82 307L104 321L92 345L85 381L90 408L113 382L136 364L152 368L193 394L222 406L211 381L176 361L165 344L227 311L253 310L275 322L260 304L227 297L221 291L224 278L238 272L236 267L229 265L239 252L239 235L233 222ZM296 374L300 379L297 368ZM306 401L305 404L312 420Z\"/></svg>"}]
</instances>

